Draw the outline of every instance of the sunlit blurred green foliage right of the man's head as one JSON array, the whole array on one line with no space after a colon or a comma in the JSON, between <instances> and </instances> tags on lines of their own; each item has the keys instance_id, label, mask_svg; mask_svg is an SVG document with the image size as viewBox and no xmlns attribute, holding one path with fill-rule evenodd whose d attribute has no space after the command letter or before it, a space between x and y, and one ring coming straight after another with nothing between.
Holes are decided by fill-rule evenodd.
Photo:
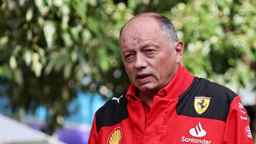
<instances>
[{"instance_id":1,"label":"sunlit blurred green foliage right of the man's head","mask_svg":"<svg viewBox=\"0 0 256 144\"><path fill-rule=\"evenodd\" d=\"M255 1L188 1L171 13L186 43L183 65L235 92L255 81ZM253 83L252 81L252 84Z\"/></svg>"}]
</instances>

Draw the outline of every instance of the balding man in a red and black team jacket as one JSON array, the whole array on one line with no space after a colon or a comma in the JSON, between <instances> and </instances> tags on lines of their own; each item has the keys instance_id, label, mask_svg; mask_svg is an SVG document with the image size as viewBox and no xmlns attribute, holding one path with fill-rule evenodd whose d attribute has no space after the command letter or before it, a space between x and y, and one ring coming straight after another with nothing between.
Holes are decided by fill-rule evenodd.
<instances>
[{"instance_id":1,"label":"balding man in a red and black team jacket","mask_svg":"<svg viewBox=\"0 0 256 144\"><path fill-rule=\"evenodd\" d=\"M135 16L119 43L132 84L95 113L90 144L252 143L238 95L181 66L184 44L168 18Z\"/></svg>"}]
</instances>

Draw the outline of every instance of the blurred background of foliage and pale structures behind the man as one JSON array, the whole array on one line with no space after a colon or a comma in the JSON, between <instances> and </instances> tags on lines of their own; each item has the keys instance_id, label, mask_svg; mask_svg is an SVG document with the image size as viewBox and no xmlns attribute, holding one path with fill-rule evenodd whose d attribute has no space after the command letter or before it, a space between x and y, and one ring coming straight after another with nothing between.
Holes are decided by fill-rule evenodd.
<instances>
[{"instance_id":1,"label":"blurred background of foliage and pale structures behind the man","mask_svg":"<svg viewBox=\"0 0 256 144\"><path fill-rule=\"evenodd\" d=\"M129 86L119 29L148 11L171 18L191 73L240 95L255 133L253 0L1 0L0 113L63 143L87 143L95 111Z\"/></svg>"}]
</instances>

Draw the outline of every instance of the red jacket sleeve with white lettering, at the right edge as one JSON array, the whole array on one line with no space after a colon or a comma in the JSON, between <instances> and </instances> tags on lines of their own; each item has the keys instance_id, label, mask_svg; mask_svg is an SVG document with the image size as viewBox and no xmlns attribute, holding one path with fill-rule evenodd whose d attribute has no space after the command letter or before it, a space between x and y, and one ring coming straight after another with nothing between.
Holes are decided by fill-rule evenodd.
<instances>
[{"instance_id":1,"label":"red jacket sleeve with white lettering, at the right edge","mask_svg":"<svg viewBox=\"0 0 256 144\"><path fill-rule=\"evenodd\" d=\"M224 144L252 144L252 133L247 111L242 106L239 96L235 96L230 104L225 126Z\"/></svg>"}]
</instances>

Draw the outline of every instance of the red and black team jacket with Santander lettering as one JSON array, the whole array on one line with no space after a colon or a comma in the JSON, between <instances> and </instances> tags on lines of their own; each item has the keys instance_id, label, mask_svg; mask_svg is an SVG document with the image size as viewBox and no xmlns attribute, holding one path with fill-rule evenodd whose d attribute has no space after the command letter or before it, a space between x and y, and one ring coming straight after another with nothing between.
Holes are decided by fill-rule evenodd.
<instances>
[{"instance_id":1,"label":"red and black team jacket with Santander lettering","mask_svg":"<svg viewBox=\"0 0 256 144\"><path fill-rule=\"evenodd\" d=\"M252 144L247 112L230 89L179 67L149 113L133 85L96 113L89 144Z\"/></svg>"}]
</instances>

